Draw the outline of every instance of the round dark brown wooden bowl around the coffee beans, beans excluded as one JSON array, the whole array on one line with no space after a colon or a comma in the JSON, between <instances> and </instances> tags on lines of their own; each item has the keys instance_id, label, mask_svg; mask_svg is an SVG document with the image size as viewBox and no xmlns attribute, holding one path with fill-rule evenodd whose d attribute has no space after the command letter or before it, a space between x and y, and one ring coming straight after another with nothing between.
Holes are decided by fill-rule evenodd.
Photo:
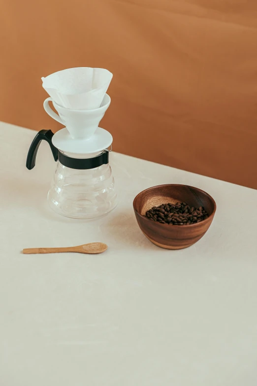
<instances>
[{"instance_id":1,"label":"round dark brown wooden bowl around the coffee beans, beans excluded","mask_svg":"<svg viewBox=\"0 0 257 386\"><path fill-rule=\"evenodd\" d=\"M204 207L209 217L196 224L180 226L160 224L144 216L154 206L177 202L186 202L195 208ZM143 190L135 197L133 207L143 234L156 246L166 249L187 248L200 240L211 225L216 211L216 203L208 193L193 186L176 184Z\"/></svg>"}]
</instances>

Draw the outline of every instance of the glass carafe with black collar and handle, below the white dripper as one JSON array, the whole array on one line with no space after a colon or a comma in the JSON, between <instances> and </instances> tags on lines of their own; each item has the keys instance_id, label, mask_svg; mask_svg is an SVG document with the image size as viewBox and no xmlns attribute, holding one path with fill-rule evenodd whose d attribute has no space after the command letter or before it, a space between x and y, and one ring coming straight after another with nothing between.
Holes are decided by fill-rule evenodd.
<instances>
[{"instance_id":1,"label":"glass carafe with black collar and handle, below the white dripper","mask_svg":"<svg viewBox=\"0 0 257 386\"><path fill-rule=\"evenodd\" d=\"M117 193L109 165L109 151L67 153L53 145L53 136L51 130L37 133L27 157L27 168L32 169L41 140L47 140L57 161L48 192L50 207L59 214L73 218L98 217L114 209Z\"/></svg>"}]
</instances>

